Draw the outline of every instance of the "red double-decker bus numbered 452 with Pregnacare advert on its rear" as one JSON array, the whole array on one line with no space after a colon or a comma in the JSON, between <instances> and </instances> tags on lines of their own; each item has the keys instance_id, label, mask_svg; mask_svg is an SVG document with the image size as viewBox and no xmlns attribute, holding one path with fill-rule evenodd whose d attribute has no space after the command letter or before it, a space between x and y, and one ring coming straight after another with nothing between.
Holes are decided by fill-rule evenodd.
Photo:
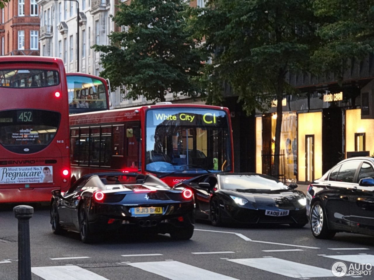
<instances>
[{"instance_id":1,"label":"red double-decker bus numbered 452 with Pregnacare advert on its rear","mask_svg":"<svg viewBox=\"0 0 374 280\"><path fill-rule=\"evenodd\" d=\"M70 183L61 59L0 56L0 203L50 201Z\"/></svg>"}]
</instances>

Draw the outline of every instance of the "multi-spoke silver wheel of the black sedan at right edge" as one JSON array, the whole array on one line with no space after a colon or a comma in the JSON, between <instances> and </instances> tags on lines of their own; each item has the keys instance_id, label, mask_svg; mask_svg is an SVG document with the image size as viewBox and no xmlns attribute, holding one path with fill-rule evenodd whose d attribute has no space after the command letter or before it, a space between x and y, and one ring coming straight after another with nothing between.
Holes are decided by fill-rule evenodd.
<instances>
[{"instance_id":1,"label":"multi-spoke silver wheel of the black sedan at right edge","mask_svg":"<svg viewBox=\"0 0 374 280\"><path fill-rule=\"evenodd\" d=\"M331 239L335 236L335 231L329 230L324 208L321 202L316 202L312 205L310 212L310 227L312 228L313 236L318 239Z\"/></svg>"}]
</instances>

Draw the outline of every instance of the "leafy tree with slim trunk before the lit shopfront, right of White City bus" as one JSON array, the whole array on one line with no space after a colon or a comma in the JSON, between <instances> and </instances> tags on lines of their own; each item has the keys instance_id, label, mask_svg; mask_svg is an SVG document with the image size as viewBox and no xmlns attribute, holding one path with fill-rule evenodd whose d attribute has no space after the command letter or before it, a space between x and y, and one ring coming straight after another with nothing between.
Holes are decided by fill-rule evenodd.
<instances>
[{"instance_id":1,"label":"leafy tree with slim trunk before the lit shopfront, right of White City bus","mask_svg":"<svg viewBox=\"0 0 374 280\"><path fill-rule=\"evenodd\" d=\"M247 113L266 111L275 98L275 154L280 152L282 99L294 89L288 71L308 71L318 46L311 0L210 0L196 15L200 37L214 53L206 68L209 95L226 81L244 103ZM217 84L218 83L218 84ZM265 106L264 106L265 105ZM275 158L278 174L279 157Z\"/></svg>"}]
</instances>

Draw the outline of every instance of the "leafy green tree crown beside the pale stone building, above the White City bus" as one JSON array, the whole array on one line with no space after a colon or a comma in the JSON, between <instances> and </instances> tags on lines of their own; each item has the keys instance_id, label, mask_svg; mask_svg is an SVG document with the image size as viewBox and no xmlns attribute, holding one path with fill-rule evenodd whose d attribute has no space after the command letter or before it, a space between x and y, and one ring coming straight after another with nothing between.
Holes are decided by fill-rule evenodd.
<instances>
[{"instance_id":1,"label":"leafy green tree crown beside the pale stone building, above the White City bus","mask_svg":"<svg viewBox=\"0 0 374 280\"><path fill-rule=\"evenodd\" d=\"M113 16L128 31L109 35L110 45L101 51L101 75L113 88L125 86L128 98L139 95L165 101L167 91L196 97L204 93L197 81L204 57L188 24L191 8L183 0L132 0L120 3Z\"/></svg>"}]
</instances>

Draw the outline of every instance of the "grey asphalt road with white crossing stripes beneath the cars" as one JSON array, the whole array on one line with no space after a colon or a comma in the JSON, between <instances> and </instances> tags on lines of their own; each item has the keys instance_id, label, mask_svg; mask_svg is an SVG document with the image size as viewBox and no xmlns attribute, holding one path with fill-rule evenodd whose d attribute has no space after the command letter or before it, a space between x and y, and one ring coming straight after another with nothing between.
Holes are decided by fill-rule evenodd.
<instances>
[{"instance_id":1,"label":"grey asphalt road with white crossing stripes beneath the cars","mask_svg":"<svg viewBox=\"0 0 374 280\"><path fill-rule=\"evenodd\" d=\"M0 208L0 280L18 279L17 222L12 208ZM108 235L86 245L76 233L52 234L49 209L35 208L30 236L33 280L335 279L335 261L374 266L374 237L338 233L332 240L318 240L309 225L291 229L197 223L187 241L168 235Z\"/></svg>"}]
</instances>

